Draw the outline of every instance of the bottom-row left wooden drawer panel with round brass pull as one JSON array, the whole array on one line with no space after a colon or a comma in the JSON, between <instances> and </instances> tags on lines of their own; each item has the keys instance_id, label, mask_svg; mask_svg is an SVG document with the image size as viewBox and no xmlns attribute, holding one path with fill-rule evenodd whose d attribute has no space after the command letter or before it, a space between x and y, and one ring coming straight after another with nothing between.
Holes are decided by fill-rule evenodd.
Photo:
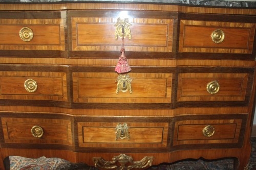
<instances>
[{"instance_id":1,"label":"bottom-row left wooden drawer panel with round brass pull","mask_svg":"<svg viewBox=\"0 0 256 170\"><path fill-rule=\"evenodd\" d=\"M71 122L63 119L2 117L5 143L72 144Z\"/></svg>"}]
</instances>

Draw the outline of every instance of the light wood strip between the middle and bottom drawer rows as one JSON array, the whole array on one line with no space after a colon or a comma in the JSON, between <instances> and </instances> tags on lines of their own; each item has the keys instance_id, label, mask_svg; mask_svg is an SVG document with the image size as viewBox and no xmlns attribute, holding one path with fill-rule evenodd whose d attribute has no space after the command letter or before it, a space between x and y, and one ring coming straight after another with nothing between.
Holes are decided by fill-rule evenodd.
<instances>
[{"instance_id":1,"label":"light wood strip between the middle and bottom drawer rows","mask_svg":"<svg viewBox=\"0 0 256 170\"><path fill-rule=\"evenodd\" d=\"M174 116L181 114L232 114L232 113L247 113L248 107L185 107L185 108L176 108L173 110L169 109L158 109L149 110L149 109L140 109L140 110L124 110L120 112L117 109L68 109L61 107L34 107L34 106L1 106L0 111L18 111L18 112L34 112L36 114L44 113L67 113L70 115L104 115L104 116Z\"/></svg>"}]
</instances>

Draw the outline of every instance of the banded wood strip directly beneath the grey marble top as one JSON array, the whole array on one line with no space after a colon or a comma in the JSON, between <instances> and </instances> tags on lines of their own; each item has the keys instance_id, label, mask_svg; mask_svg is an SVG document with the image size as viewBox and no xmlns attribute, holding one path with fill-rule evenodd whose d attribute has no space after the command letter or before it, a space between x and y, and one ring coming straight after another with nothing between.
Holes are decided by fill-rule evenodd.
<instances>
[{"instance_id":1,"label":"banded wood strip directly beneath the grey marble top","mask_svg":"<svg viewBox=\"0 0 256 170\"><path fill-rule=\"evenodd\" d=\"M255 15L254 9L242 8L213 8L213 7L189 7L178 5L161 4L129 4L129 3L65 3L65 4L1 4L0 10L154 10L154 11L176 11L188 13L210 13L210 14L240 14Z\"/></svg>"}]
</instances>

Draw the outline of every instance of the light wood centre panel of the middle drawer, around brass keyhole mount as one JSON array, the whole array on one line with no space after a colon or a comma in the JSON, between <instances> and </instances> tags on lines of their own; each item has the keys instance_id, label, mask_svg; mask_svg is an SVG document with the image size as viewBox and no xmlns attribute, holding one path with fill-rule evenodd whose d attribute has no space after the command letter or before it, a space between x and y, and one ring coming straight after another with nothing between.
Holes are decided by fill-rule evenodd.
<instances>
[{"instance_id":1,"label":"light wood centre panel of the middle drawer, around brass keyhole mount","mask_svg":"<svg viewBox=\"0 0 256 170\"><path fill-rule=\"evenodd\" d=\"M117 74L73 72L74 102L82 103L170 103L172 74L130 73L131 94L117 89Z\"/></svg>"}]
</instances>

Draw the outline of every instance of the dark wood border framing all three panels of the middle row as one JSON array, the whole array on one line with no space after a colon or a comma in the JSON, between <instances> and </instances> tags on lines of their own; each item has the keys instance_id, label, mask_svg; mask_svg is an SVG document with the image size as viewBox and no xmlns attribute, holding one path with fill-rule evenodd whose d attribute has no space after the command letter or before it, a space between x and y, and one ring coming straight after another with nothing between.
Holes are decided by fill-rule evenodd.
<instances>
[{"instance_id":1,"label":"dark wood border framing all three panels of the middle row","mask_svg":"<svg viewBox=\"0 0 256 170\"><path fill-rule=\"evenodd\" d=\"M174 109L178 107L229 107L248 106L250 91L253 85L253 67L132 67L132 72L145 73L173 73L172 103L73 103L73 80L72 72L114 72L114 66L35 66L2 64L0 70L8 71L56 71L67 73L68 101L37 101L37 100L0 100L0 105L15 106L53 106L74 109ZM216 72L216 73L247 73L248 84L244 101L216 101L216 102L177 102L178 76L180 73L189 72Z\"/></svg>"}]
</instances>

